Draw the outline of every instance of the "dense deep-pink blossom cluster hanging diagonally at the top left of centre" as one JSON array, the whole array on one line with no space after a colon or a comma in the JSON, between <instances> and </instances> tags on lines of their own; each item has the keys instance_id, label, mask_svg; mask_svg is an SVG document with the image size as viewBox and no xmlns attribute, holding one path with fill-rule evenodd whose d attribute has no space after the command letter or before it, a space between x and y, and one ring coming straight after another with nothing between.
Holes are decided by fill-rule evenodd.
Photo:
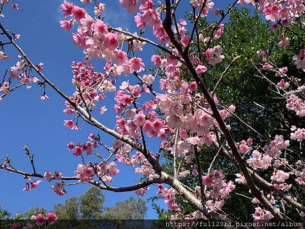
<instances>
[{"instance_id":1,"label":"dense deep-pink blossom cluster hanging diagonally at the top left of centre","mask_svg":"<svg viewBox=\"0 0 305 229\"><path fill-rule=\"evenodd\" d=\"M70 20L60 21L60 25L69 31L72 22L79 21L77 33L73 33L72 37L74 43L77 47L82 47L90 58L109 60L110 63L105 66L106 71L118 76L121 73L129 75L143 70L144 64L140 58L129 59L126 52L117 49L119 40L128 39L125 35L108 32L108 25L103 20L94 20L84 9L67 1L60 6L60 9L64 11L64 17L73 16ZM115 61L115 64L112 61Z\"/></svg>"}]
</instances>

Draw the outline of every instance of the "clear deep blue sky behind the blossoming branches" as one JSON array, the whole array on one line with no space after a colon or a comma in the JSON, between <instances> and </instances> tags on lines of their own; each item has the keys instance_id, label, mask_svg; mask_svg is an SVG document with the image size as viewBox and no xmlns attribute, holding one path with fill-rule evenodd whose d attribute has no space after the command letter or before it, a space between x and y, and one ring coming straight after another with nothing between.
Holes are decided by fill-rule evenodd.
<instances>
[{"instance_id":1,"label":"clear deep blue sky behind the blossoming branches","mask_svg":"<svg viewBox=\"0 0 305 229\"><path fill-rule=\"evenodd\" d=\"M71 41L71 33L65 32L59 26L59 20L63 20L62 12L59 5L63 1L16 1L19 4L19 10L14 11L10 6L4 9L4 18L0 18L1 23L13 33L20 34L21 37L17 43L23 48L25 53L34 63L43 62L43 73L66 94L71 95L74 87L71 83L72 73L70 65L72 61L83 61L84 54L81 49L75 47ZM69 1L81 6L80 1ZM156 2L156 1L155 1ZM182 4L178 9L178 13L184 16L186 9L191 10L188 1L181 1ZM232 2L232 1L230 1ZM134 32L138 29L133 21L133 16L126 12L119 5L119 1L105 0L106 18L105 21L112 26L121 26L128 28ZM222 8L223 1L215 1L216 7ZM93 5L83 5L88 12L92 12ZM188 8L186 8L188 7ZM217 19L217 18L212 18ZM151 38L148 36L148 38ZM3 36L0 37L3 39ZM6 40L3 39L5 42ZM145 52L138 53L146 65L150 65L150 56L154 52L154 48L146 44ZM0 75L6 69L15 65L17 60L17 52L12 46L5 46L6 52L10 59L0 62ZM95 61L95 68L102 69L104 61ZM149 67L149 66L146 66ZM133 76L122 76L119 81L130 80L132 83L137 81ZM50 97L48 101L41 101L40 95L43 89L37 85L33 85L31 90L19 89L9 94L0 103L0 158L9 155L12 158L12 164L24 171L32 171L27 156L21 150L24 145L28 146L32 153L35 154L36 169L38 173L45 170L57 170L64 173L64 176L73 176L80 158L76 158L67 150L66 145L70 141L84 142L87 141L89 133L100 133L106 144L111 145L112 137L102 133L98 129L88 126L83 122L79 123L82 130L72 131L63 125L63 120L69 119L62 110L65 109L64 99L54 93L49 87L46 93ZM100 102L100 106L106 105L108 111L103 117L97 117L98 120L113 128L115 124L115 113L113 111L113 95L107 95L107 98ZM151 151L157 151L159 140L149 139L147 141L148 148ZM98 149L98 153L106 155L106 151L102 148ZM95 161L94 156L91 156ZM120 166L120 173L113 178L111 186L126 186L136 184L136 179L140 176L134 173L134 168L128 166ZM2 207L12 213L26 211L31 206L44 206L48 210L52 209L55 203L63 203L70 196L78 196L83 193L89 186L77 185L67 187L68 194L57 196L52 192L50 183L44 181L39 188L33 191L22 191L25 180L22 176L8 173L0 170L0 181L2 187L0 189L0 204ZM151 187L148 194L144 196L154 196L157 188ZM130 196L136 197L133 192L113 193L104 191L106 196L106 206L112 206L115 202L126 199ZM167 208L163 200L158 202ZM150 203L147 204L147 218L154 219L157 217Z\"/></svg>"}]
</instances>

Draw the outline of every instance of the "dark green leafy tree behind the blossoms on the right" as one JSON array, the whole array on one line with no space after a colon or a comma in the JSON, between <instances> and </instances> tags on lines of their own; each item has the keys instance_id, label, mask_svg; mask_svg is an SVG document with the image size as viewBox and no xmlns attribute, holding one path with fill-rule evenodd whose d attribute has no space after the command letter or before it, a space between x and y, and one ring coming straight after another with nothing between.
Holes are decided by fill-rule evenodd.
<instances>
[{"instance_id":1,"label":"dark green leafy tree behind the blossoms on the right","mask_svg":"<svg viewBox=\"0 0 305 229\"><path fill-rule=\"evenodd\" d=\"M190 15L188 16L190 17ZM198 31L203 31L203 29L208 27L211 23L213 22L208 22L205 18L201 18L198 23ZM290 28L304 37L305 31L301 31L300 28L294 25ZM285 34L285 37L291 38L291 42L288 47L279 48L277 47L277 43L279 42L278 36L283 33ZM209 36L210 31L203 32L203 37ZM261 57L256 54L256 51L265 50L270 55L270 61L277 63L279 68L287 66L289 69L288 75L294 75L301 78L302 84L304 81L304 77L302 76L304 75L301 71L296 69L292 56L299 53L299 47L305 46L304 39L295 36L287 28L281 28L277 32L272 32L270 31L269 23L265 22L259 14L251 12L249 9L242 8L234 9L232 11L229 21L225 23L223 36L220 39L212 41L210 47L219 44L223 48L225 59L216 66L208 65L208 71L204 74L206 85L209 91L213 91L216 83L229 63L236 56L241 55L220 81L216 90L216 95L220 105L226 107L231 104L235 105L235 115L261 134L253 131L253 129L250 129L240 122L239 119L232 116L226 120L226 123L231 126L231 134L236 142L251 137L254 139L255 146L264 147L270 140L273 140L276 134L282 134L284 139L289 139L291 125L296 125L297 127L304 126L305 122L297 117L293 111L286 109L286 100L278 98L279 96L270 90L272 88L270 88L269 83L265 79L259 77L259 72L251 63L253 62L258 68L261 68ZM192 48L195 52L204 52L204 50L206 50L206 43L201 42L200 51L198 51L197 40L194 39ZM280 81L280 77L276 77L275 72L265 71L264 74L273 82ZM189 75L188 72L185 72L186 79ZM296 152L304 150L303 147L301 149L299 149L299 147L300 145L291 142L289 149L295 150ZM214 147L202 147L199 152L200 166L204 173L206 173L217 151L218 149ZM163 168L168 171L169 174L172 174L172 155L170 152L163 152L163 157L166 160L163 164ZM294 160L299 157L300 155L296 154ZM178 159L177 164L179 164L179 162L180 160ZM239 168L221 153L212 165L212 169L220 168L224 170L227 181L234 181L236 178L234 174L239 172ZM180 171L183 169L192 170L184 159L182 159ZM257 173L264 179L269 180L272 171L258 170ZM192 189L199 185L198 178L194 178L193 176L180 178L180 181L187 184ZM294 182L293 179L291 179L291 182ZM255 211L255 205L251 203L251 199L238 195L243 194L252 197L251 194L249 194L249 188L246 185L237 183L235 183L235 185L236 188L234 192L227 197L222 209L232 218L245 221L253 220L252 214ZM295 187L296 189L299 189L298 185L295 185ZM265 193L269 193L268 190L263 190ZM300 189L297 190L297 192L300 193L298 201L301 204L304 204L305 196ZM196 210L188 203L183 202L182 199L178 199L178 203L182 206L181 209L185 214L189 214ZM156 209L159 218L169 218L172 214L156 205L154 205L154 208ZM298 214L294 211L295 210L289 206L286 207L287 214L295 213L297 217Z\"/></svg>"}]
</instances>

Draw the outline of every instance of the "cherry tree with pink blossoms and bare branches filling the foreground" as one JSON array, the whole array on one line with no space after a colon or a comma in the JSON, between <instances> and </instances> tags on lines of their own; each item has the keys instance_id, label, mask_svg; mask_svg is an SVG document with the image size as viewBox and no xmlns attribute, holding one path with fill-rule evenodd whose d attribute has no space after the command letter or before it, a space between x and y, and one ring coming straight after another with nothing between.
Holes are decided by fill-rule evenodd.
<instances>
[{"instance_id":1,"label":"cherry tree with pink blossoms and bare branches filling the foreground","mask_svg":"<svg viewBox=\"0 0 305 229\"><path fill-rule=\"evenodd\" d=\"M50 182L51 189L58 195L69 191L67 185L79 183L89 183L112 192L134 191L138 195L155 191L174 212L171 216L173 219L226 219L233 222L233 217L224 212L222 206L234 192L235 185L242 184L249 190L256 207L253 212L255 220L293 218L285 213L285 205L294 208L300 218L304 217L305 207L298 197L304 196L301 193L305 185L304 158L300 150L296 152L289 147L293 142L299 142L301 146L305 130L292 125L290 139L284 139L279 130L271 140L265 142L265 146L255 142L252 136L248 139L232 137L227 118L234 116L234 101L229 106L222 106L225 101L219 101L217 90L227 71L241 58L238 53L225 71L220 72L214 87L208 85L209 72L217 69L226 58L218 39L226 36L224 21L235 6L248 4L270 22L270 30L284 28L294 36L300 36L292 26L304 28L302 14L305 1L236 0L227 9L215 9L210 0L191 0L189 20L182 19L184 15L176 13L181 4L179 0L119 0L119 3L128 13L136 13L131 18L139 28L138 32L131 33L108 24L107 7L96 0L75 3L65 0L60 5L63 12L60 26L69 33L73 31L72 41L84 52L84 61L75 60L71 65L75 87L72 95L67 95L52 83L49 76L43 73L44 64L33 63L18 45L18 33L11 32L0 23L0 60L10 56L6 52L8 45L19 51L16 65L4 73L0 84L0 101L5 102L5 97L19 88L29 88L35 84L44 89L40 99L48 100L45 89L50 88L66 100L64 113L69 118L63 123L67 128L76 131L81 130L83 125L92 125L97 131L90 133L87 140L81 139L83 143L67 144L68 150L80 159L79 164L75 165L75 176L66 177L48 168L44 173L38 173L33 154L27 147L23 150L32 171L21 171L14 167L13 159L9 156L1 161L0 169L25 176L27 182L24 190L39 188L40 182ZM0 4L0 14L5 14L9 0L0 0ZM90 4L94 8L94 15L87 13L82 4ZM19 6L13 3L11 7L18 10ZM218 15L220 19L199 30L200 20L208 14ZM149 31L154 39L146 38ZM204 36L206 34L208 36ZM151 63L143 63L141 55L144 55L142 53L148 45L154 46L156 53L151 56ZM288 45L290 38L283 33L279 36L278 47ZM290 58L295 62L295 71L303 73L305 49L298 47L298 50ZM289 112L299 117L305 116L303 79L295 77L287 66L274 62L270 52L260 49L257 55L261 62L249 61L249 65L253 65L257 75L269 83L269 90L285 99ZM105 61L102 62L104 71L94 70L93 59ZM270 79L266 72L273 72L277 81ZM118 85L117 79L124 76L135 77L138 83L133 85L127 80ZM98 111L103 116L107 109L112 109L103 102L111 93L115 94L113 107L117 113L114 129L100 122L97 112L94 112ZM248 128L252 127L248 125ZM113 137L112 146L105 145L99 132ZM157 154L147 147L146 142L151 138L161 141ZM109 153L108 156L95 153L100 147ZM202 147L217 151L207 170L200 165ZM172 155L170 173L159 160L164 152ZM238 167L235 180L226 179L224 168L213 167L219 153ZM298 157L294 157L295 154ZM182 161L192 169L182 169ZM135 173L141 174L143 181L127 187L109 186L115 176L119 176L117 163L135 167ZM257 173L270 168L273 173L267 178ZM191 188L182 183L181 178L187 176L198 179L199 185ZM177 198L184 199L196 211L182 213Z\"/></svg>"}]
</instances>

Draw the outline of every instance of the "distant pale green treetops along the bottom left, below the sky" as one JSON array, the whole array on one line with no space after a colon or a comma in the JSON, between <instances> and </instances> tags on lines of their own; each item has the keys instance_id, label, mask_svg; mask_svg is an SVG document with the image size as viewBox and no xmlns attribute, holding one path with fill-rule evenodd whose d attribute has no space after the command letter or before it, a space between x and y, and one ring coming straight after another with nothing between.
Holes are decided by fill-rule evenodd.
<instances>
[{"instance_id":1,"label":"distant pale green treetops along the bottom left, below the sky","mask_svg":"<svg viewBox=\"0 0 305 229\"><path fill-rule=\"evenodd\" d=\"M113 207L104 207L104 202L105 196L101 189L91 186L79 197L72 196L64 204L55 204L50 212L55 212L58 219L144 219L147 211L146 202L141 198L130 197L115 203ZM39 213L46 214L47 210L34 206L16 218L31 219L32 215ZM8 214L7 217L10 216ZM1 208L0 216L5 218L5 211Z\"/></svg>"}]
</instances>

